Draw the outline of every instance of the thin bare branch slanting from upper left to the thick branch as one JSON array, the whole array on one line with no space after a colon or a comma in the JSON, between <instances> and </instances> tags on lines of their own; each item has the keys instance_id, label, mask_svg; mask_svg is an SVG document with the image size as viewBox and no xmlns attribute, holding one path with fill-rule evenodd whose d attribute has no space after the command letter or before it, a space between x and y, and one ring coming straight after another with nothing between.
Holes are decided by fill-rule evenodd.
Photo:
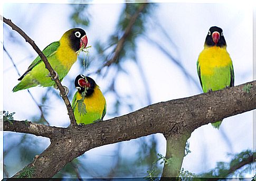
<instances>
[{"instance_id":1,"label":"thin bare branch slanting from upper left to the thick branch","mask_svg":"<svg viewBox=\"0 0 256 181\"><path fill-rule=\"evenodd\" d=\"M39 47L37 47L37 45L35 44L35 42L25 34L25 32L22 31L21 28L17 27L12 21L11 19L6 19L5 17L3 17L3 21L4 23L6 23L7 25L11 26L12 29L14 31L16 31L18 34L20 34L26 42L28 42L33 48L34 50L36 51L36 53L41 57L42 61L44 62L45 64L45 68L48 69L48 71L50 72L50 75L52 78L54 78L56 76L56 73L54 71L54 69L52 68L51 64L49 63L48 59L45 57L45 55L42 53L42 51L39 49ZM59 90L60 90L60 93L61 95L65 95L65 89L64 87L62 86L61 84L61 81L60 79L57 77L57 78L54 78L54 81L55 81L55 84L58 86ZM68 109L68 115L69 115L69 118L70 118L70 122L71 122L71 125L72 126L76 126L77 123L75 121L75 117L74 117L74 114L73 114L73 109L71 107L71 104L70 104L70 101L69 101L69 98L67 95L63 96L62 99L64 100L64 103Z\"/></svg>"}]
</instances>

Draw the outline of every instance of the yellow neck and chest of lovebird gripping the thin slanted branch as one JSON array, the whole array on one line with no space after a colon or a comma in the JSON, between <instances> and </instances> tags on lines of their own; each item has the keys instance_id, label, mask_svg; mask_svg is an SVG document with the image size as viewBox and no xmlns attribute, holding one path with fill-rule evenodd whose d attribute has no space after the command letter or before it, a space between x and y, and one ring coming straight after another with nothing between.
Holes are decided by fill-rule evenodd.
<instances>
[{"instance_id":1,"label":"yellow neck and chest of lovebird gripping the thin slanted branch","mask_svg":"<svg viewBox=\"0 0 256 181\"><path fill-rule=\"evenodd\" d=\"M77 61L77 53L71 48L70 42L67 37L62 37L60 39L60 46L56 52L57 58L60 60L64 67L68 70Z\"/></svg>"}]
</instances>

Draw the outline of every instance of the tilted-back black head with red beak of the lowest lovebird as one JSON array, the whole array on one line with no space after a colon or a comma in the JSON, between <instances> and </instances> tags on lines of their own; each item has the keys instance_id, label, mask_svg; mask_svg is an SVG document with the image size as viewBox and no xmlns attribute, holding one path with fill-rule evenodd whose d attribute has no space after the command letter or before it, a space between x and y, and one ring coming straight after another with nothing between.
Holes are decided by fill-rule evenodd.
<instances>
[{"instance_id":1,"label":"tilted-back black head with red beak of the lowest lovebird","mask_svg":"<svg viewBox=\"0 0 256 181\"><path fill-rule=\"evenodd\" d=\"M74 86L78 89L78 92L80 94L82 94L84 90L86 90L85 96L90 96L94 92L96 83L91 77L80 74L75 78Z\"/></svg>"}]
</instances>

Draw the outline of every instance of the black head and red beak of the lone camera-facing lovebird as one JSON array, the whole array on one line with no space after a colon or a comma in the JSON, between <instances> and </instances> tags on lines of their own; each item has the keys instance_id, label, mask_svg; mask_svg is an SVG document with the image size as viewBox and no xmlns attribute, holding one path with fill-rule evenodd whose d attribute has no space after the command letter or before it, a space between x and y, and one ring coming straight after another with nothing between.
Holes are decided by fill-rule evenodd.
<instances>
[{"instance_id":1,"label":"black head and red beak of the lone camera-facing lovebird","mask_svg":"<svg viewBox=\"0 0 256 181\"><path fill-rule=\"evenodd\" d=\"M205 38L205 44L208 46L226 46L222 29L217 26L212 26Z\"/></svg>"}]
</instances>

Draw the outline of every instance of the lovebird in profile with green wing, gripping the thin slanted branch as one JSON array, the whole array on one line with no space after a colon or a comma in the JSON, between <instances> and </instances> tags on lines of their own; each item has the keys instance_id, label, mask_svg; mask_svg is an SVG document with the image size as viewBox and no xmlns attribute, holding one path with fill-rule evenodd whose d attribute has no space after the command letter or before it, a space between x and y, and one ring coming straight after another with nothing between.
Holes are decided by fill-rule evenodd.
<instances>
[{"instance_id":1,"label":"lovebird in profile with green wing, gripping the thin slanted branch","mask_svg":"<svg viewBox=\"0 0 256 181\"><path fill-rule=\"evenodd\" d=\"M87 43L86 32L81 28L72 28L62 35L60 41L53 42L43 49L43 54L59 76L60 81L77 61L77 51L80 48L85 48ZM49 71L45 68L40 56L34 59L27 71L18 78L18 81L21 82L13 88L13 92L37 85L43 87L55 86L55 82L49 76Z\"/></svg>"}]
</instances>

